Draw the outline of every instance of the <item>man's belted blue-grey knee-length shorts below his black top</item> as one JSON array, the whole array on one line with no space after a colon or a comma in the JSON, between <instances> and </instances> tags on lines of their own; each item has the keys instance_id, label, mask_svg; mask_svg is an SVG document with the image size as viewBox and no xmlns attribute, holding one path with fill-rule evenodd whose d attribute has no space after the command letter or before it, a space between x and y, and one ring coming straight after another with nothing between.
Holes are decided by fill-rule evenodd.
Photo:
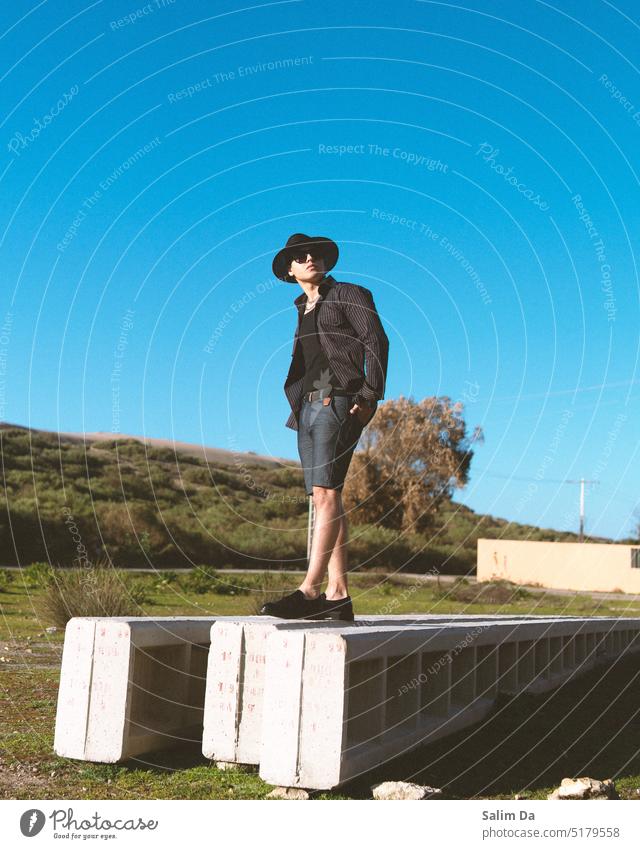
<instances>
[{"instance_id":1,"label":"man's belted blue-grey knee-length shorts below his black top","mask_svg":"<svg viewBox=\"0 0 640 849\"><path fill-rule=\"evenodd\" d=\"M341 490L351 457L364 429L349 410L356 395L334 395L331 403L302 402L298 416L298 453L307 495L314 486Z\"/></svg>"}]
</instances>

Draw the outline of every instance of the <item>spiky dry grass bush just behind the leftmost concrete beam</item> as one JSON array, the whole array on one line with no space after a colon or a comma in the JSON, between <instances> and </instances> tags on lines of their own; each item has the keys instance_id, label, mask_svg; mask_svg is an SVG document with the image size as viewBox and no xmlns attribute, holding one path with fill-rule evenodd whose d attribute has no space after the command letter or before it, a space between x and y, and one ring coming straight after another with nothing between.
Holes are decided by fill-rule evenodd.
<instances>
[{"instance_id":1,"label":"spiky dry grass bush just behind the leftmost concrete beam","mask_svg":"<svg viewBox=\"0 0 640 849\"><path fill-rule=\"evenodd\" d=\"M74 616L135 616L140 587L101 559L84 569L51 570L36 602L43 619L64 628Z\"/></svg>"}]
</instances>

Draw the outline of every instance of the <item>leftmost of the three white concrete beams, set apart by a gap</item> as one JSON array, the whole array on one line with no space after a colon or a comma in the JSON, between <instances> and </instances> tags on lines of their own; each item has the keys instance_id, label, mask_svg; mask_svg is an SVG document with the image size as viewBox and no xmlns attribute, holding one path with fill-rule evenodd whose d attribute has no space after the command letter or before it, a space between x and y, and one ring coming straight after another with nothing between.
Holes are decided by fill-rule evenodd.
<instances>
[{"instance_id":1,"label":"leftmost of the three white concrete beams, set apart by a gap","mask_svg":"<svg viewBox=\"0 0 640 849\"><path fill-rule=\"evenodd\" d=\"M56 754L114 763L181 741L200 742L217 619L71 619L62 653Z\"/></svg>"}]
</instances>

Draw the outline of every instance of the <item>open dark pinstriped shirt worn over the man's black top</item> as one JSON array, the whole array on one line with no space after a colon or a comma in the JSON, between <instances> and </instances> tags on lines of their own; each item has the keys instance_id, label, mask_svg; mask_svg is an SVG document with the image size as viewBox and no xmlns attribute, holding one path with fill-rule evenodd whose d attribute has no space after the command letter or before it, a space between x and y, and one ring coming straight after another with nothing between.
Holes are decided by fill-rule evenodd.
<instances>
[{"instance_id":1,"label":"open dark pinstriped shirt worn over the man's black top","mask_svg":"<svg viewBox=\"0 0 640 849\"><path fill-rule=\"evenodd\" d=\"M320 283L318 292L321 297L314 307L318 337L335 379L341 388L358 395L356 403L375 405L384 398L389 340L371 292L355 283L339 283L330 274ZM292 430L298 430L298 414L302 406L304 358L298 335L306 302L304 292L294 301L298 310L298 326L293 339L291 366L284 384L291 406L285 425Z\"/></svg>"}]
</instances>

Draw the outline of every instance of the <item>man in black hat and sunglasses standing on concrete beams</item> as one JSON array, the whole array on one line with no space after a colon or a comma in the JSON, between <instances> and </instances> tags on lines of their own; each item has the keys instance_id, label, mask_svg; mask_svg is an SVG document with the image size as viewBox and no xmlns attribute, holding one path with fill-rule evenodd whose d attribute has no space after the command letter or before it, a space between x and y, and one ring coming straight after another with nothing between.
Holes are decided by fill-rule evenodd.
<instances>
[{"instance_id":1,"label":"man in black hat and sunglasses standing on concrete beams","mask_svg":"<svg viewBox=\"0 0 640 849\"><path fill-rule=\"evenodd\" d=\"M286 619L353 621L342 488L362 430L384 398L389 340L371 292L328 273L337 260L331 239L295 233L272 266L276 277L302 289L294 301L298 326L284 384L291 406L286 426L298 432L305 489L316 514L305 579L260 611Z\"/></svg>"}]
</instances>

